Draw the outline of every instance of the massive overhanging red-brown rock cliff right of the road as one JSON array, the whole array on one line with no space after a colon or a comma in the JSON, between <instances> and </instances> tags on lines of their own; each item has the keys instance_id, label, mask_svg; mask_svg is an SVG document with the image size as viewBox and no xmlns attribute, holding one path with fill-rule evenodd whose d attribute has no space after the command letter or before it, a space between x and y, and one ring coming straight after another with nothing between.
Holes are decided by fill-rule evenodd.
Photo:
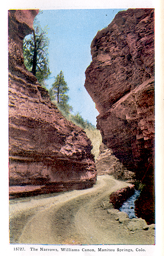
<instances>
[{"instance_id":1,"label":"massive overhanging red-brown rock cliff right of the road","mask_svg":"<svg viewBox=\"0 0 164 256\"><path fill-rule=\"evenodd\" d=\"M100 113L97 128L103 143L138 180L151 184L150 189L154 180L154 10L119 12L95 36L91 54L85 87Z\"/></svg>"}]
</instances>

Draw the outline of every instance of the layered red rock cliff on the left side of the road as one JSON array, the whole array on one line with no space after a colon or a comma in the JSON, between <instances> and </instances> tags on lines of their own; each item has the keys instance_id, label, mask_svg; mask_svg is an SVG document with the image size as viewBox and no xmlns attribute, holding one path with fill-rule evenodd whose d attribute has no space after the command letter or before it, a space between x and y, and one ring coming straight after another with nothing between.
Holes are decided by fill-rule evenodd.
<instances>
[{"instance_id":1,"label":"layered red rock cliff on the left side of the road","mask_svg":"<svg viewBox=\"0 0 164 256\"><path fill-rule=\"evenodd\" d=\"M9 11L9 183L12 196L83 189L96 181L90 140L83 129L63 117L47 91L23 64L23 38L32 33L37 13L37 10Z\"/></svg>"}]
</instances>

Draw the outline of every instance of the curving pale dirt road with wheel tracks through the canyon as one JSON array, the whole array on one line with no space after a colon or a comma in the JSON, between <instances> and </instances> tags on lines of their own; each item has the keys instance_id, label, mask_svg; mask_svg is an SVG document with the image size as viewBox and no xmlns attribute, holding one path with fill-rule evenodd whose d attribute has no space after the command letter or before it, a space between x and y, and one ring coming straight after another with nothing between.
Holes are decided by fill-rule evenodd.
<instances>
[{"instance_id":1,"label":"curving pale dirt road with wheel tracks through the canyon","mask_svg":"<svg viewBox=\"0 0 164 256\"><path fill-rule=\"evenodd\" d=\"M10 242L19 244L154 244L153 230L125 229L111 220L102 200L127 186L98 176L91 189L10 201Z\"/></svg>"}]
</instances>

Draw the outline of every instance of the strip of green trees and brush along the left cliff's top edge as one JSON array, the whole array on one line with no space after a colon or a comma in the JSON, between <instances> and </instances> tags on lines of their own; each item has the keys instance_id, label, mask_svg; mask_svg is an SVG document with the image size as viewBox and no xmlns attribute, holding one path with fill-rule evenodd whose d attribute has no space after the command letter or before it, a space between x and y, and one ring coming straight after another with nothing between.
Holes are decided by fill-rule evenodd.
<instances>
[{"instance_id":1,"label":"strip of green trees and brush along the left cliff's top edge","mask_svg":"<svg viewBox=\"0 0 164 256\"><path fill-rule=\"evenodd\" d=\"M28 36L23 41L23 57L24 64L27 70L36 76L38 82L46 89L45 80L49 78L49 58L48 47L49 39L46 37L47 28L42 29L37 19L34 20L34 30L32 35ZM102 142L100 131L88 120L84 120L80 113L72 114L72 106L68 104L69 96L66 94L69 91L62 70L55 77L55 82L48 90L51 101L57 105L63 116L75 125L83 128L87 137L92 143L92 154L95 158L98 157L99 146Z\"/></svg>"}]
</instances>

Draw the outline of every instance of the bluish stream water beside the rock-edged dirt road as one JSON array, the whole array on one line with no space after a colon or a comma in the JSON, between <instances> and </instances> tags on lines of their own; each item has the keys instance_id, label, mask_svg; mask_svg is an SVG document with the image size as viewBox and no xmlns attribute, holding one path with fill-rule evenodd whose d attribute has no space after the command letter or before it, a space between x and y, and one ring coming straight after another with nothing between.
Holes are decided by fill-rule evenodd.
<instances>
[{"instance_id":1,"label":"bluish stream water beside the rock-edged dirt road","mask_svg":"<svg viewBox=\"0 0 164 256\"><path fill-rule=\"evenodd\" d=\"M124 202L124 204L121 206L119 209L120 212L126 212L129 218L137 218L135 216L135 200L138 198L140 195L140 190L135 190L134 195L132 195L130 198L127 199L127 201Z\"/></svg>"}]
</instances>

